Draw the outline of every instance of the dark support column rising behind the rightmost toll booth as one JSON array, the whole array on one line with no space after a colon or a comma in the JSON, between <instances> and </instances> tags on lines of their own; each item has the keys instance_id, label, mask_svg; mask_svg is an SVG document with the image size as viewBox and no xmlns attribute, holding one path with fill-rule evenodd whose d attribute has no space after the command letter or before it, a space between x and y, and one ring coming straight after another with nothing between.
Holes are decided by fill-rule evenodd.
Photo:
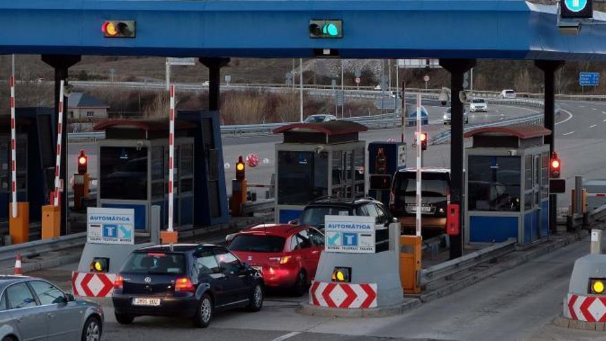
<instances>
[{"instance_id":1,"label":"dark support column rising behind the rightmost toll booth","mask_svg":"<svg viewBox=\"0 0 606 341\"><path fill-rule=\"evenodd\" d=\"M555 129L556 129L556 96L555 96L555 72L563 67L564 61L534 61L534 65L543 71L545 79L545 117L543 123L545 128L551 130L552 134L545 136L543 143L550 145L550 157L554 154L555 150ZM557 210L558 210L558 196L556 194L550 194L550 214L549 214L549 225L550 233L557 233Z\"/></svg>"}]
</instances>

